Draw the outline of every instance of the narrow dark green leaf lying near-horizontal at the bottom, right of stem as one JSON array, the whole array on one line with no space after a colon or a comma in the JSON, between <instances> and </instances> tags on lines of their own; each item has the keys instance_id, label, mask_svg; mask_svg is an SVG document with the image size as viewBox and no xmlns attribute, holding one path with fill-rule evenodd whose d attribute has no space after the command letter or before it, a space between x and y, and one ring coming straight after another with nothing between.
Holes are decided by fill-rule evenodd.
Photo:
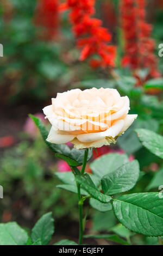
<instances>
[{"instance_id":1,"label":"narrow dark green leaf lying near-horizontal at the bottom, right of stem","mask_svg":"<svg viewBox=\"0 0 163 256\"><path fill-rule=\"evenodd\" d=\"M130 245L129 243L127 243L125 240L121 239L117 235L110 235L110 234L106 234L106 235L85 235L84 238L106 239L106 240L110 240L110 241L113 241L113 242L116 242L116 243L120 243L121 245Z\"/></svg>"}]
</instances>

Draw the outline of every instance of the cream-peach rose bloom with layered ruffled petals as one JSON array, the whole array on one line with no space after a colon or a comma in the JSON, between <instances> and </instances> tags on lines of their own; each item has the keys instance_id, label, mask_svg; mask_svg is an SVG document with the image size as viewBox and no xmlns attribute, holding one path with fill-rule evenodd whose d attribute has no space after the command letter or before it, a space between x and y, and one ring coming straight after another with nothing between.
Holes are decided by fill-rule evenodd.
<instances>
[{"instance_id":1,"label":"cream-peach rose bloom with layered ruffled petals","mask_svg":"<svg viewBox=\"0 0 163 256\"><path fill-rule=\"evenodd\" d=\"M128 114L129 98L116 89L73 89L58 93L43 113L52 124L47 141L71 142L77 149L99 148L116 138L137 118Z\"/></svg>"}]
</instances>

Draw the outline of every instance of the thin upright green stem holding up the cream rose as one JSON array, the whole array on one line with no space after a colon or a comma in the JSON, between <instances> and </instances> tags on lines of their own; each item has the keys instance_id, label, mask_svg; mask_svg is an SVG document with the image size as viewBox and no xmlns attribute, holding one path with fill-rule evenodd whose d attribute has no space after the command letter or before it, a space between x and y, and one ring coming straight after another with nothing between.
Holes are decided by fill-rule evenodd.
<instances>
[{"instance_id":1,"label":"thin upright green stem holding up the cream rose","mask_svg":"<svg viewBox=\"0 0 163 256\"><path fill-rule=\"evenodd\" d=\"M86 162L87 162L87 155L88 155L88 149L85 150L84 153L84 160L83 160L83 167L81 171L81 175L85 172ZM83 199L81 197L80 193L80 184L77 182L77 188L78 188L78 208L79 208L79 245L82 245L83 243Z\"/></svg>"}]
</instances>

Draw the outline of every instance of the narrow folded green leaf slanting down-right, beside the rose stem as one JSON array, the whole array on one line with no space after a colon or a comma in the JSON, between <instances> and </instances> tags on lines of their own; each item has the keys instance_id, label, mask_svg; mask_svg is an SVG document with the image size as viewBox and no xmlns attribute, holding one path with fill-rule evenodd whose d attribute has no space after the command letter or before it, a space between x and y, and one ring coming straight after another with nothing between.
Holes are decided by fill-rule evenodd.
<instances>
[{"instance_id":1,"label":"narrow folded green leaf slanting down-right, beside the rose stem","mask_svg":"<svg viewBox=\"0 0 163 256\"><path fill-rule=\"evenodd\" d=\"M95 199L102 203L108 203L111 197L99 192L88 174L77 175L76 181Z\"/></svg>"}]
</instances>

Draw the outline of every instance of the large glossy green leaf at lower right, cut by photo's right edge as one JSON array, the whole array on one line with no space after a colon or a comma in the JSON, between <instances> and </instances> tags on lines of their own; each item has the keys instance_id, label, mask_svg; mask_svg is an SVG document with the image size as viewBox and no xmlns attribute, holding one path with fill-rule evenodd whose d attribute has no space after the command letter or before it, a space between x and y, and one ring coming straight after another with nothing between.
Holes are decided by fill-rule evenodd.
<instances>
[{"instance_id":1,"label":"large glossy green leaf at lower right, cut by photo's right edge","mask_svg":"<svg viewBox=\"0 0 163 256\"><path fill-rule=\"evenodd\" d=\"M113 209L118 220L129 230L146 236L161 236L162 205L159 193L135 193L114 199Z\"/></svg>"}]
</instances>

